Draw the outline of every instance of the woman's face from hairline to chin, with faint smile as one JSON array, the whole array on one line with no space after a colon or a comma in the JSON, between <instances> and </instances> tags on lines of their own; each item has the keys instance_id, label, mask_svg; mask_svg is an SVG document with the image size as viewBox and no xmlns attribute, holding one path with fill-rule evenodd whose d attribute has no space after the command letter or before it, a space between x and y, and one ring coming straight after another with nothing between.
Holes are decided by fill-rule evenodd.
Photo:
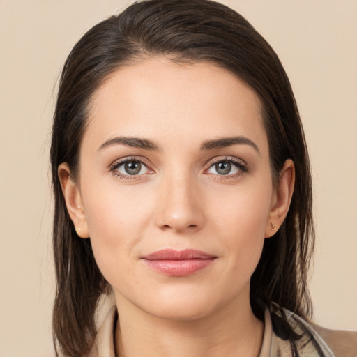
<instances>
[{"instance_id":1,"label":"woman's face from hairline to chin, with faint smile","mask_svg":"<svg viewBox=\"0 0 357 357\"><path fill-rule=\"evenodd\" d=\"M73 187L71 217L119 307L194 319L249 305L278 198L259 98L236 76L121 67L93 98Z\"/></svg>"}]
</instances>

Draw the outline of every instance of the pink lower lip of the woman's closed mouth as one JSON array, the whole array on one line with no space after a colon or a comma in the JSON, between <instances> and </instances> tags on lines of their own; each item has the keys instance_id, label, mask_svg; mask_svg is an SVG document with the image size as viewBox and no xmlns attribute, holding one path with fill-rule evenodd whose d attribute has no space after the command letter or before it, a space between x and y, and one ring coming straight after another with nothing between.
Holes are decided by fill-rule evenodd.
<instances>
[{"instance_id":1,"label":"pink lower lip of the woman's closed mouth","mask_svg":"<svg viewBox=\"0 0 357 357\"><path fill-rule=\"evenodd\" d=\"M154 271L170 276L187 276L210 266L215 258L187 260L148 260L144 259Z\"/></svg>"}]
</instances>

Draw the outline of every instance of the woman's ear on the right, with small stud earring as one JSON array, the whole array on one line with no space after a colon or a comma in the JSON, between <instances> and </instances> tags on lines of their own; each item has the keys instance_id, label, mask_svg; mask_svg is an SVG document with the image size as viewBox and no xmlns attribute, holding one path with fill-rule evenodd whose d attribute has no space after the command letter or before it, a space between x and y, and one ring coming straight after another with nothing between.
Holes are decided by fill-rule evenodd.
<instances>
[{"instance_id":1,"label":"woman's ear on the right, with small stud earring","mask_svg":"<svg viewBox=\"0 0 357 357\"><path fill-rule=\"evenodd\" d=\"M266 221L265 237L273 236L284 219L287 217L291 197L294 192L295 184L295 165L292 160L286 160L284 167L279 173L279 182L275 188L271 200L271 211L269 211L268 220Z\"/></svg>"}]
</instances>

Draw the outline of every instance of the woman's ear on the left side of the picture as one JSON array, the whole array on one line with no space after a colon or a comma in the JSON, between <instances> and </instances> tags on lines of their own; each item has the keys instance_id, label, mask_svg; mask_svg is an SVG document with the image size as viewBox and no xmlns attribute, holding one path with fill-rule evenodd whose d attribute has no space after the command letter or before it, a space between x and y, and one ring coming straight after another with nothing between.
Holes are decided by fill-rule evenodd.
<instances>
[{"instance_id":1,"label":"woman's ear on the left side of the picture","mask_svg":"<svg viewBox=\"0 0 357 357\"><path fill-rule=\"evenodd\" d=\"M75 230L79 237L89 238L89 229L86 222L81 194L76 183L71 179L70 168L68 167L67 162L63 162L59 165L58 175L67 211L73 225L75 225Z\"/></svg>"}]
</instances>

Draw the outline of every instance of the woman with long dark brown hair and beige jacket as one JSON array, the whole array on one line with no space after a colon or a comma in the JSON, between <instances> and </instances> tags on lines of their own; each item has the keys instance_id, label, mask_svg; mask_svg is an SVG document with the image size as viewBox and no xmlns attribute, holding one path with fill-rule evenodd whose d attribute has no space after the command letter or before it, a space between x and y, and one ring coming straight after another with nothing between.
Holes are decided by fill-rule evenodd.
<instances>
[{"instance_id":1,"label":"woman with long dark brown hair and beige jacket","mask_svg":"<svg viewBox=\"0 0 357 357\"><path fill-rule=\"evenodd\" d=\"M66 356L356 354L352 333L310 325L303 128L241 15L151 0L94 26L63 68L51 160Z\"/></svg>"}]
</instances>

